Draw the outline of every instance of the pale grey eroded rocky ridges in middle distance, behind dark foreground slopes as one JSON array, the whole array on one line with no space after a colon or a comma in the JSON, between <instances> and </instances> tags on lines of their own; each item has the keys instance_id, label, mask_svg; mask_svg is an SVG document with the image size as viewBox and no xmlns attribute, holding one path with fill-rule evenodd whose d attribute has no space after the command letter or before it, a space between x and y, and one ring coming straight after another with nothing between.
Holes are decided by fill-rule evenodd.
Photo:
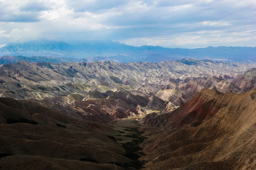
<instances>
[{"instance_id":1,"label":"pale grey eroded rocky ridges in middle distance, behind dark foreground slopes","mask_svg":"<svg viewBox=\"0 0 256 170\"><path fill-rule=\"evenodd\" d=\"M203 88L239 93L240 87L229 83L230 77L253 66L256 64L196 59L160 63L19 61L0 66L0 96L26 99L66 110L73 116L109 123L147 111L170 112ZM85 107L90 99L98 104ZM111 107L113 104L112 109L105 111L107 106L101 99L110 102ZM136 110L137 105L141 108Z\"/></svg>"}]
</instances>

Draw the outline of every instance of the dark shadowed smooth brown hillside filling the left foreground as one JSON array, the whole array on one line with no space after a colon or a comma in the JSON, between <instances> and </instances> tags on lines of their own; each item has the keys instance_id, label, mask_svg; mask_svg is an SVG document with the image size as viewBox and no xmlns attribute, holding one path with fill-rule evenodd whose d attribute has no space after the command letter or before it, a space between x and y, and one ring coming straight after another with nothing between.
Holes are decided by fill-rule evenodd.
<instances>
[{"instance_id":1,"label":"dark shadowed smooth brown hillside filling the left foreground","mask_svg":"<svg viewBox=\"0 0 256 170\"><path fill-rule=\"evenodd\" d=\"M113 160L122 170L132 162L109 126L11 98L0 98L0 108L1 170L113 170Z\"/></svg>"}]
</instances>

